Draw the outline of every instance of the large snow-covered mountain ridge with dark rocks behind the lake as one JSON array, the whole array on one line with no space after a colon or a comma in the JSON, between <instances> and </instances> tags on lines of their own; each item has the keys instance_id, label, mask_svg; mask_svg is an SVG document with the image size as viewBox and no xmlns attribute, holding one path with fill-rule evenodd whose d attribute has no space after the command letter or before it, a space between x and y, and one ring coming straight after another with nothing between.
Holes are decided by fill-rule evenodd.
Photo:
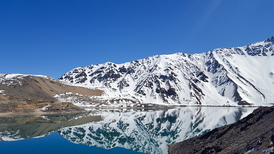
<instances>
[{"instance_id":1,"label":"large snow-covered mountain ridge with dark rocks behind the lake","mask_svg":"<svg viewBox=\"0 0 274 154\"><path fill-rule=\"evenodd\" d=\"M155 55L123 64L78 67L59 80L108 87L109 103L274 104L274 37L200 54ZM111 92L111 93L112 93ZM106 93L106 96L113 95Z\"/></svg>"}]
</instances>

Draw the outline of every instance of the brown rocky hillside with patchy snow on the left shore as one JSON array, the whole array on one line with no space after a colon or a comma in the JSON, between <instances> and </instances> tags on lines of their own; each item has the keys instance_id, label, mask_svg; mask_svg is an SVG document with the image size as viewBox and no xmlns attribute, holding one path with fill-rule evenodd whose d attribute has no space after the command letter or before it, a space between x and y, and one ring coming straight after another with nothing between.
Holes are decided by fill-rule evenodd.
<instances>
[{"instance_id":1,"label":"brown rocky hillside with patchy snow on the left shore","mask_svg":"<svg viewBox=\"0 0 274 154\"><path fill-rule=\"evenodd\" d=\"M101 96L103 91L69 85L41 75L0 74L0 112L80 111L71 102L60 102L56 95ZM91 101L86 99L86 101Z\"/></svg>"}]
</instances>

